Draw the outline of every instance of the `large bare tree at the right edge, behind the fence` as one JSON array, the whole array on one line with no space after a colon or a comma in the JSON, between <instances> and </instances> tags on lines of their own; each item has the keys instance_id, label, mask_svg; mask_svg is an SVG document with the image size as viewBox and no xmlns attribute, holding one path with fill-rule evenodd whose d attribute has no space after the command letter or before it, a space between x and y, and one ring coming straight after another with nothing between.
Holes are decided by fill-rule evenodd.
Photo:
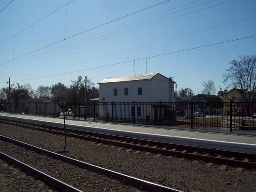
<instances>
[{"instance_id":1,"label":"large bare tree at the right edge, behind the fence","mask_svg":"<svg viewBox=\"0 0 256 192\"><path fill-rule=\"evenodd\" d=\"M249 117L253 102L256 102L256 55L239 56L239 61L233 60L229 64L231 66L223 75L223 83L241 90Z\"/></svg>"}]
</instances>

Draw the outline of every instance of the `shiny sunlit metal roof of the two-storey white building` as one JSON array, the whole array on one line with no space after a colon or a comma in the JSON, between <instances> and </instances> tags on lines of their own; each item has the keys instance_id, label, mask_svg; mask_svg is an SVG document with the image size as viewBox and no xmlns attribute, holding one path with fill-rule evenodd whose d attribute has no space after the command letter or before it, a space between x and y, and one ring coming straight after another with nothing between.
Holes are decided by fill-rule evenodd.
<instances>
[{"instance_id":1,"label":"shiny sunlit metal roof of the two-storey white building","mask_svg":"<svg viewBox=\"0 0 256 192\"><path fill-rule=\"evenodd\" d=\"M110 78L110 79L103 79L102 81L99 81L98 84L123 82L123 81L147 80L147 79L152 79L157 74L158 73L149 73L149 74L138 75L138 76L126 76L126 77L116 77L116 78Z\"/></svg>"}]
</instances>

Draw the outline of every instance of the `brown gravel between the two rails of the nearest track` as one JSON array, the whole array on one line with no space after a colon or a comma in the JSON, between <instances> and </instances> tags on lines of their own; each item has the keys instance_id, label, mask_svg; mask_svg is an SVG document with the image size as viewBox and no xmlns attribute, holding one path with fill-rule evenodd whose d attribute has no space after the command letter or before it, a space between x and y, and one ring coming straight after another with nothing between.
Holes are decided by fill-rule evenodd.
<instances>
[{"instance_id":1,"label":"brown gravel between the two rails of the nearest track","mask_svg":"<svg viewBox=\"0 0 256 192\"><path fill-rule=\"evenodd\" d=\"M3 148L0 148L3 153L82 191L137 191L134 187L123 185L121 182L111 180L104 175L98 175L94 172L87 171L86 169L81 169L62 162L61 160L48 157L47 155L26 150L25 148L12 143L0 140L0 145L4 146Z\"/></svg>"}]
</instances>

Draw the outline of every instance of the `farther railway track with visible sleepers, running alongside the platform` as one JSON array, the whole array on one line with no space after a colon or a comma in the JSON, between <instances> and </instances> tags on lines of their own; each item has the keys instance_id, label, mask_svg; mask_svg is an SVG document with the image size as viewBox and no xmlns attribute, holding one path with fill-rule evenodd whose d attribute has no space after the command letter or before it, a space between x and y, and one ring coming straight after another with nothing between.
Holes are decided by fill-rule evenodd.
<instances>
[{"instance_id":1,"label":"farther railway track with visible sleepers, running alongside the platform","mask_svg":"<svg viewBox=\"0 0 256 192\"><path fill-rule=\"evenodd\" d=\"M3 119L0 119L0 123L17 125L23 128L48 132L51 134L64 135L62 128L53 126L38 126L33 123L20 123L17 121L14 122ZM241 171L242 169L256 169L256 154L225 151L213 148L201 148L188 145L177 145L172 143L161 143L150 140L141 140L130 137L120 137L73 129L67 129L66 135L67 137L74 137L96 143L116 145L120 148L128 148L128 150L133 149L137 150L138 152L146 151L146 154L154 153L158 155L165 155L167 157L175 156L190 160L203 160L209 163L209 166L212 163L221 165L222 169L225 169L227 166L238 167L237 171Z\"/></svg>"}]
</instances>

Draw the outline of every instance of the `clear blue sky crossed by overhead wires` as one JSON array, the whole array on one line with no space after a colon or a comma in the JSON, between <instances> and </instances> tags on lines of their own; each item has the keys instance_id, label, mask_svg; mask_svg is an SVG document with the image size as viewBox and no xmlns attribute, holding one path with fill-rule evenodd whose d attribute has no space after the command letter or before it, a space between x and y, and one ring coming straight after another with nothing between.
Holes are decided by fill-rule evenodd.
<instances>
[{"instance_id":1,"label":"clear blue sky crossed by overhead wires","mask_svg":"<svg viewBox=\"0 0 256 192\"><path fill-rule=\"evenodd\" d=\"M11 0L1 0L0 9L3 9L3 7L5 7L10 1ZM0 42L6 40L12 35L15 35L26 26L29 26L69 1L70 0L14 0L0 13ZM164 0L74 0L68 4L66 38L162 1ZM69 38L51 47L47 47L46 49L41 49L38 52L17 58L21 55L64 39L66 18L65 6L16 36L14 58L17 59L14 59L6 64L2 64L13 58L15 38L11 38L3 44L0 44L0 63L2 64L0 65L0 87L6 87L6 84L3 82L8 81L9 77L11 77L11 84L16 84L15 81L19 82L20 84L30 83L34 89L36 89L39 85L50 86L58 82L62 82L69 86L71 83L70 81L76 80L79 75L83 77L87 75L87 78L91 79L96 84L102 79L108 77L133 75L133 62L70 73L61 76L53 76L44 79L34 79L28 81L22 80L84 70L108 64L115 64L122 61L129 61L133 60L133 58L145 58L152 55L174 52L182 49L189 49L192 47L199 47L221 41L256 35L256 18L253 18L204 32L175 38L177 36L196 32L202 29L256 16L255 0L235 0L230 3L215 6L213 8L182 17L177 16L217 5L219 3L224 3L228 0L214 0L209 3L205 3L209 0L200 0L190 5L168 11L169 9L182 6L193 1L195 0L171 0L154 8L125 17L121 20L117 20L113 23L93 29L81 35L77 35L76 37ZM201 3L205 4L192 9L177 12ZM173 12L177 13L150 21L148 23L143 23L129 29L124 29L125 27L133 26ZM172 17L177 18L166 20ZM141 20L143 18L146 19ZM161 20L166 21L153 24L151 26L146 26ZM131 24L107 33L120 29L124 30L111 35L116 35L121 32L134 29L133 31L116 35L115 37L107 38L102 41L93 42L111 36L106 35L104 37L97 38L107 33L100 35L96 34L125 25L127 23ZM146 27L137 29L142 26ZM87 38L92 35L96 36ZM45 52L47 50L72 43L73 41L78 41L82 38L87 38L83 40L87 42L81 43L83 41L79 41L77 43L81 43L79 45L87 45L51 55L52 53L55 53L52 51L57 50L54 49L49 51L52 52L49 54L50 56L43 55L45 53L49 53ZM90 40L92 38L96 39ZM88 44L90 42L93 43ZM154 44L155 42L158 43ZM147 44L149 45L144 46ZM135 47L141 48L133 49ZM127 49L133 50L125 51ZM62 49L61 51L63 50L65 49ZM36 56L40 55L38 53L41 53L43 56L35 58ZM104 55L113 53L116 54L102 57ZM216 88L219 90L219 86L221 86L222 89L225 87L225 85L222 83L222 75L229 67L228 63L233 59L237 59L238 55L253 54L256 54L255 37L215 45L212 47L204 47L201 49L148 58L148 73L159 72L164 76L173 77L177 82L178 89L191 87L195 93L201 92L202 81L212 79L215 82ZM28 58L32 59L28 60ZM80 62L93 58L96 59L87 62ZM145 60L136 61L135 74L139 75L144 74L145 72Z\"/></svg>"}]
</instances>

